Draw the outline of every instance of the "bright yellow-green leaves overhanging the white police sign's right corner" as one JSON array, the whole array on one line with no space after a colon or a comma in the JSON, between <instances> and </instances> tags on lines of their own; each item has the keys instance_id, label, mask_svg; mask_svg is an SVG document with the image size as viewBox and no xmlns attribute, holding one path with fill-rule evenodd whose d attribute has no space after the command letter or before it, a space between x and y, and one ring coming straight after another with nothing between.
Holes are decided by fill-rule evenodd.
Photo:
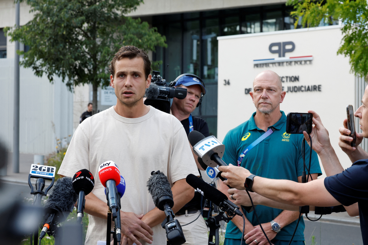
<instances>
[{"instance_id":1,"label":"bright yellow-green leaves overhanging the white police sign's right corner","mask_svg":"<svg viewBox=\"0 0 368 245\"><path fill-rule=\"evenodd\" d=\"M288 0L293 5L291 15L302 18L302 25L318 26L321 21L342 21L343 39L337 54L349 57L351 72L365 76L368 73L368 7L366 0Z\"/></svg>"}]
</instances>

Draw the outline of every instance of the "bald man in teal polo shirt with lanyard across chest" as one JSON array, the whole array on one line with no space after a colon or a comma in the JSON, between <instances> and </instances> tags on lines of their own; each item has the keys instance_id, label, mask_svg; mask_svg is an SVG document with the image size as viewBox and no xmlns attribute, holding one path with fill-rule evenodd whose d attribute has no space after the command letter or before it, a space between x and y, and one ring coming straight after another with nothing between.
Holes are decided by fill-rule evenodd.
<instances>
[{"instance_id":1,"label":"bald man in teal polo shirt with lanyard across chest","mask_svg":"<svg viewBox=\"0 0 368 245\"><path fill-rule=\"evenodd\" d=\"M250 95L256 107L256 112L250 119L230 130L224 140L225 152L223 160L226 163L245 167L257 176L269 179L287 179L301 183L303 160L301 154L302 134L286 133L286 115L280 111L286 92L282 91L280 77L273 71L259 73L253 82ZM274 131L246 155L242 152L262 134L273 127ZM271 131L272 132L272 131ZM309 146L305 144L305 161L309 163ZM242 158L244 157L244 158ZM311 176L316 179L321 175L317 154L312 152ZM309 179L309 181L311 181ZM226 194L229 188L222 182L219 190ZM287 245L296 227L299 212L270 208L258 205L255 208L270 241L275 245ZM245 213L244 239L248 245L268 245L265 235L259 227L254 212ZM272 230L274 222L279 229ZM304 221L301 218L292 245L305 245ZM239 245L243 230L243 219L235 216L227 224L224 245Z\"/></svg>"}]
</instances>

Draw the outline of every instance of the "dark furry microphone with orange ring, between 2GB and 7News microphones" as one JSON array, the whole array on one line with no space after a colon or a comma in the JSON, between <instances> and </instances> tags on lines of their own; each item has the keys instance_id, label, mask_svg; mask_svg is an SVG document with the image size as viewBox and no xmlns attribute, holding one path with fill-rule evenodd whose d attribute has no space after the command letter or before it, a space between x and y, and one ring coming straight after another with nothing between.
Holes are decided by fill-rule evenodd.
<instances>
[{"instance_id":1,"label":"dark furry microphone with orange ring, between 2GB and 7News microphones","mask_svg":"<svg viewBox=\"0 0 368 245\"><path fill-rule=\"evenodd\" d=\"M45 234L54 235L57 224L63 222L73 211L78 195L72 187L71 177L62 177L56 181L53 191L46 200L46 216L39 239Z\"/></svg>"}]
</instances>

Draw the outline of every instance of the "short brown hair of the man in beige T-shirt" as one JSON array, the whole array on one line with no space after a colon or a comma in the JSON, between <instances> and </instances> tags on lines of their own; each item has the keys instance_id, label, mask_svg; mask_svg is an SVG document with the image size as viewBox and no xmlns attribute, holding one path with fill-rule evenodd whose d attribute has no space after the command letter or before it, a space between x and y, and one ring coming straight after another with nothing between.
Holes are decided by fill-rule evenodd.
<instances>
[{"instance_id":1,"label":"short brown hair of the man in beige T-shirt","mask_svg":"<svg viewBox=\"0 0 368 245\"><path fill-rule=\"evenodd\" d=\"M151 61L149 61L148 55L146 51L134 47L134 46L124 46L117 51L114 55L113 60L110 62L109 71L111 75L115 75L115 63L116 61L120 60L121 58L129 58L130 60L136 57L141 57L144 62L144 73L146 79L148 78L149 73L151 73Z\"/></svg>"}]
</instances>

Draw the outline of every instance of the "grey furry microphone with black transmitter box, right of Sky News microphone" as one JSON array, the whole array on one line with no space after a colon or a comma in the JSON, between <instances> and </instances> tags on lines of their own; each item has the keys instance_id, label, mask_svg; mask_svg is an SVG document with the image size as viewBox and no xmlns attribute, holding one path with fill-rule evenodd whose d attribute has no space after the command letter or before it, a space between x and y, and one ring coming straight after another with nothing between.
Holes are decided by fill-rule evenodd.
<instances>
[{"instance_id":1,"label":"grey furry microphone with black transmitter box, right of Sky News microphone","mask_svg":"<svg viewBox=\"0 0 368 245\"><path fill-rule=\"evenodd\" d=\"M171 245L184 244L185 237L178 220L174 220L174 212L171 209L174 206L173 192L167 177L158 171L152 171L151 177L147 181L148 192L151 194L155 206L164 211L166 218L161 226L166 230L166 237Z\"/></svg>"}]
</instances>

